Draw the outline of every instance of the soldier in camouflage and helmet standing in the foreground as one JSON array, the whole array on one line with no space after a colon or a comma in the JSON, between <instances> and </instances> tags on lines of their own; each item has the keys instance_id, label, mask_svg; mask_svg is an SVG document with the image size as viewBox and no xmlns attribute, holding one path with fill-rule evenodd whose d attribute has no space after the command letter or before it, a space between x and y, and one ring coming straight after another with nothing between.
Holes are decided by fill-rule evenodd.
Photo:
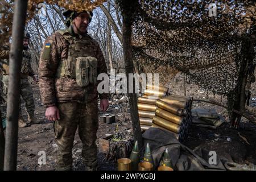
<instances>
[{"instance_id":1,"label":"soldier in camouflage and helmet standing in the foreground","mask_svg":"<svg viewBox=\"0 0 256 182\"><path fill-rule=\"evenodd\" d=\"M92 12L64 11L67 30L59 30L44 43L39 63L39 87L46 117L54 121L57 170L72 169L72 147L77 127L86 170L97 167L97 76L107 73L98 43L87 34ZM101 110L109 94L100 94Z\"/></svg>"}]
</instances>

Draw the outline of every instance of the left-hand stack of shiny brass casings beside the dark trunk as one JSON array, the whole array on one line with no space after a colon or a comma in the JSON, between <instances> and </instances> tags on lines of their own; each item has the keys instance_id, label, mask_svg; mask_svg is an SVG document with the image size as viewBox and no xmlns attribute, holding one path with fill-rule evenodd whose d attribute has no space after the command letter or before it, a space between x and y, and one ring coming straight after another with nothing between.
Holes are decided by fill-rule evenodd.
<instances>
[{"instance_id":1,"label":"left-hand stack of shiny brass casings beside the dark trunk","mask_svg":"<svg viewBox=\"0 0 256 182\"><path fill-rule=\"evenodd\" d=\"M158 89L158 90L156 90ZM138 98L139 122L141 129L147 130L153 125L153 118L155 117L156 101L166 96L168 88L163 86L147 85L143 97Z\"/></svg>"}]
</instances>

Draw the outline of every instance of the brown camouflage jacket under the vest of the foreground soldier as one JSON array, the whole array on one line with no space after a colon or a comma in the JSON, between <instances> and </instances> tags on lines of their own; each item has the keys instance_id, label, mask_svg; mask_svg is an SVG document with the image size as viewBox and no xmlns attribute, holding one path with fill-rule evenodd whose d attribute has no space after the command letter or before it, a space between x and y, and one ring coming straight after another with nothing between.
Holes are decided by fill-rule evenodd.
<instances>
[{"instance_id":1,"label":"brown camouflage jacket under the vest of the foreground soldier","mask_svg":"<svg viewBox=\"0 0 256 182\"><path fill-rule=\"evenodd\" d=\"M90 56L96 57L97 74L107 73L106 63L100 46L89 35L76 35L72 28L69 28L68 34L76 39L85 39L89 42L88 52ZM79 37L80 36L80 37ZM51 47L47 47L51 45ZM89 84L86 88L77 85L76 79L70 77L56 77L57 69L64 59L68 58L69 42L60 34L59 31L49 36L44 42L39 62L39 87L42 102L45 106L53 106L57 102L90 102L97 100L97 84ZM47 51L47 58L45 55ZM43 59L44 58L44 59ZM100 99L108 99L109 94L100 94Z\"/></svg>"}]
</instances>

